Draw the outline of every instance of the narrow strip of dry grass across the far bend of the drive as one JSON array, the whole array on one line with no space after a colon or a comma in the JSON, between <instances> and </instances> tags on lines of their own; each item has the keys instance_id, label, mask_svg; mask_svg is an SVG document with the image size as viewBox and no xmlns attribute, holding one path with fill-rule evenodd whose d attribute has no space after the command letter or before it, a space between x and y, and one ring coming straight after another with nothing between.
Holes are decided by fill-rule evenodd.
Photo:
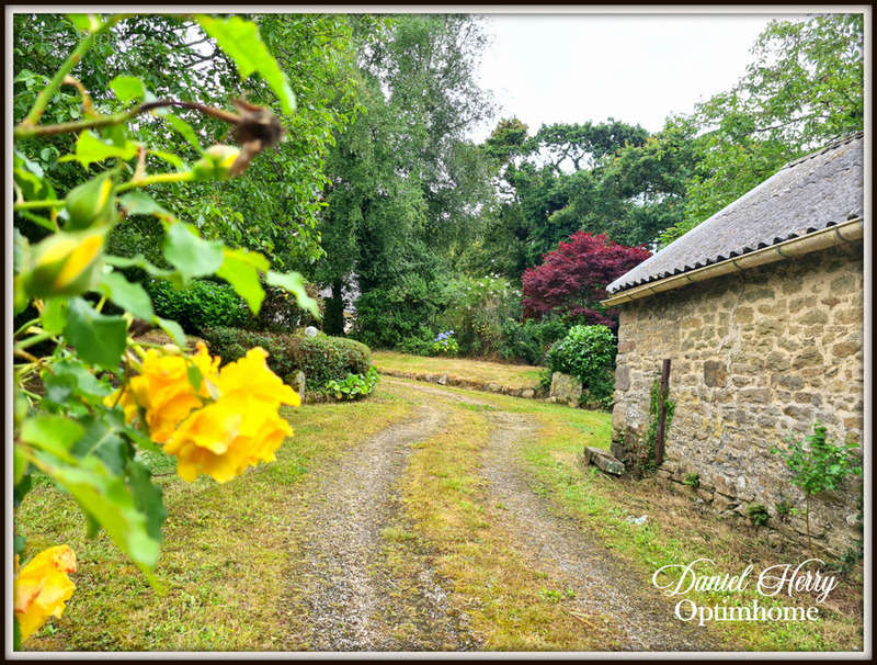
<instances>
[{"instance_id":1,"label":"narrow strip of dry grass across the far bend of the drive","mask_svg":"<svg viewBox=\"0 0 877 665\"><path fill-rule=\"evenodd\" d=\"M512 388L536 388L539 384L539 371L528 364L506 364L489 360L468 358L426 358L408 356L396 351L372 351L372 362L378 371L423 372L426 374L445 374L467 381L485 384L498 383Z\"/></svg>"}]
</instances>

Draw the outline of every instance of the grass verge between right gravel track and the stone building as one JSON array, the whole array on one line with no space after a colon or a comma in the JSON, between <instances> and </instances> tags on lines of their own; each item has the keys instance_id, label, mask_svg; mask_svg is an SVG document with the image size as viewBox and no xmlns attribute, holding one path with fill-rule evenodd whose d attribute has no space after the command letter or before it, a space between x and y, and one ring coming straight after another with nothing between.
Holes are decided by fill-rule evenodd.
<instances>
[{"instance_id":1,"label":"grass verge between right gravel track and the stone building","mask_svg":"<svg viewBox=\"0 0 877 665\"><path fill-rule=\"evenodd\" d=\"M594 414L600 424L542 410L543 429L524 446L522 457L534 476L534 489L547 496L558 514L579 521L583 531L597 536L617 556L650 579L654 571L671 563L708 557L715 566L705 574L736 574L748 563L759 572L770 565L809 557L804 551L771 549L766 531L744 520L725 522L710 512L701 512L691 492L676 492L656 480L628 481L608 477L595 467L582 467L578 454L583 446L607 448L611 419ZM590 433L586 428L591 428ZM584 433L584 436L582 436ZM643 526L628 517L648 516ZM820 609L818 622L713 622L714 630L729 645L751 651L857 651L862 649L862 578L852 574L842 579L830 602ZM687 597L697 605L722 602L722 593L693 591ZM733 594L733 604L764 607L816 605L809 597L765 598L754 584ZM729 601L731 598L729 598ZM730 646L729 646L730 647Z\"/></svg>"}]
</instances>

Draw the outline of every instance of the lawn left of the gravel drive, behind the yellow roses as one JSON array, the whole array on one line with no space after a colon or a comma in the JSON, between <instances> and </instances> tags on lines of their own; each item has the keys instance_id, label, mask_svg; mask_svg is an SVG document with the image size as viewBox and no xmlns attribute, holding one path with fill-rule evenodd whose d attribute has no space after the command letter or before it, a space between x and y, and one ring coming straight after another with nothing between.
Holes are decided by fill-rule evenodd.
<instances>
[{"instance_id":1,"label":"lawn left of the gravel drive, behind the yellow roses","mask_svg":"<svg viewBox=\"0 0 877 665\"><path fill-rule=\"evenodd\" d=\"M42 651L250 651L299 645L283 610L296 542L289 525L308 497L303 480L363 436L402 419L411 405L386 393L343 405L286 409L295 435L262 464L219 485L185 483L173 460L148 455L164 492L168 520L156 570L166 591L150 588L104 536L86 538L72 499L36 483L15 511L29 559L68 543L77 586L60 619L25 644ZM356 422L356 427L351 427Z\"/></svg>"}]
</instances>

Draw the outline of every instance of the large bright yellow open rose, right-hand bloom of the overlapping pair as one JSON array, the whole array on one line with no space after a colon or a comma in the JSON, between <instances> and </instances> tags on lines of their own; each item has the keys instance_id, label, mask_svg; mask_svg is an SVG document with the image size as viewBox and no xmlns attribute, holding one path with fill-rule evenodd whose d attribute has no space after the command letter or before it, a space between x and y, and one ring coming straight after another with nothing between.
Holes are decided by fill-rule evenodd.
<instances>
[{"instance_id":1,"label":"large bright yellow open rose, right-hand bloom of the overlapping pair","mask_svg":"<svg viewBox=\"0 0 877 665\"><path fill-rule=\"evenodd\" d=\"M267 368L266 357L257 347L224 367L216 379L219 398L193 412L171 435L164 452L176 457L180 477L191 482L204 473L226 483L248 466L274 461L293 433L277 408L298 406L300 398Z\"/></svg>"}]
</instances>

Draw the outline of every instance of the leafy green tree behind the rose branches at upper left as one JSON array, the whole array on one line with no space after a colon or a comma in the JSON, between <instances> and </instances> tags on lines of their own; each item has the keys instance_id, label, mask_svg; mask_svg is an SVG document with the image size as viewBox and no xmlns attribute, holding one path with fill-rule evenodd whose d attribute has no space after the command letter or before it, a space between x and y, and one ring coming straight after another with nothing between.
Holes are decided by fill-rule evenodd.
<instances>
[{"instance_id":1,"label":"leafy green tree behind the rose branches at upper left","mask_svg":"<svg viewBox=\"0 0 877 665\"><path fill-rule=\"evenodd\" d=\"M91 104L107 113L128 104L110 88L116 77L140 79L149 100L197 100L225 108L230 100L242 97L273 106L287 127L286 139L255 160L247 179L230 181L221 189L197 182L160 184L153 195L175 215L196 222L207 237L261 251L278 269L301 270L321 256L316 225L323 206L324 160L333 133L350 121L355 106L351 30L339 14L267 14L250 19L258 23L260 37L277 58L298 99L294 114L284 113L276 105L261 78L239 80L234 60L216 48L191 18L132 16L98 36L71 74L83 89L94 91ZM60 65L62 48L72 48L77 36L64 16L53 14L16 14L15 30L18 119L33 103L39 83ZM81 116L76 88L62 87L59 97L76 103L53 103L46 110L46 121ZM172 125L172 117L182 122ZM167 111L163 119L144 115L132 129L145 143L184 137L185 147L179 150L182 164L196 160L203 145L221 143L229 134L226 123L180 106ZM70 135L61 134L22 146L27 158L38 164L61 192L71 187L81 169L58 161L72 148L72 140ZM150 154L147 166L158 168L161 159ZM23 225L22 230L34 237L35 229ZM156 243L160 237L161 228L153 218L130 215L114 228L110 245L126 256L141 252L160 263Z\"/></svg>"}]
</instances>

